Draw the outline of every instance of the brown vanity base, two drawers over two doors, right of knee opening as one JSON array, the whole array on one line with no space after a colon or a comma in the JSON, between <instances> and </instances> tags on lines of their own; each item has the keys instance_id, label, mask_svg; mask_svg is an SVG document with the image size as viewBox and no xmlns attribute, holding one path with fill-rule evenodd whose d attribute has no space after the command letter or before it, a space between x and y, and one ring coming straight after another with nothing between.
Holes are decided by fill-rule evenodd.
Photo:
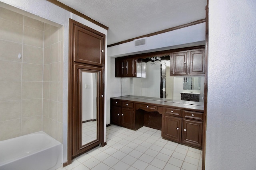
<instances>
[{"instance_id":1,"label":"brown vanity base, two drawers over two doors, right of knee opening","mask_svg":"<svg viewBox=\"0 0 256 170\"><path fill-rule=\"evenodd\" d=\"M180 111L172 108L164 108L162 115L162 137L189 145L202 148L202 116L197 111Z\"/></svg>"}]
</instances>

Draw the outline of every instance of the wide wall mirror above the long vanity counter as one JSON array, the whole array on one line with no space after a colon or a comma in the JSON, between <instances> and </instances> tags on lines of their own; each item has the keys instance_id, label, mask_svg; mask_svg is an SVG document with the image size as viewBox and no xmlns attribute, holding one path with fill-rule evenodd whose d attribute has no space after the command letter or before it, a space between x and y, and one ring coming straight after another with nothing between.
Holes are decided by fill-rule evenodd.
<instances>
[{"instance_id":1,"label":"wide wall mirror above the long vanity counter","mask_svg":"<svg viewBox=\"0 0 256 170\"><path fill-rule=\"evenodd\" d=\"M204 77L170 76L170 60L147 61L146 78L121 79L122 96L166 98L165 101L184 103L182 93L199 94L204 102ZM161 99L162 100L162 99Z\"/></svg>"}]
</instances>

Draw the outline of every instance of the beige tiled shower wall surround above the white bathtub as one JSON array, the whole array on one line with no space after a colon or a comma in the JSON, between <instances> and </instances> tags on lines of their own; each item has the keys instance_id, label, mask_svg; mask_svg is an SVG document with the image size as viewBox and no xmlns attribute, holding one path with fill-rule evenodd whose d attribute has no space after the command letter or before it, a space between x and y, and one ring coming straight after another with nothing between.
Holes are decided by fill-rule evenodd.
<instances>
[{"instance_id":1,"label":"beige tiled shower wall surround above the white bathtub","mask_svg":"<svg viewBox=\"0 0 256 170\"><path fill-rule=\"evenodd\" d=\"M0 7L0 141L43 130L62 142L61 31Z\"/></svg>"}]
</instances>

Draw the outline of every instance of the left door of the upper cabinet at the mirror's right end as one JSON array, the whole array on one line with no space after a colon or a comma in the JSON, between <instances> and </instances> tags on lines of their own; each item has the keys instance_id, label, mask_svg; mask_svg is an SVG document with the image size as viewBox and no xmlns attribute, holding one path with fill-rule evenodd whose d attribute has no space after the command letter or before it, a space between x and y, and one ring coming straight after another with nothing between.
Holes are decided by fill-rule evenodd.
<instances>
[{"instance_id":1,"label":"left door of the upper cabinet at the mirror's right end","mask_svg":"<svg viewBox=\"0 0 256 170\"><path fill-rule=\"evenodd\" d=\"M187 59L188 53L181 51L172 53L172 69L170 69L170 76L182 76L187 74Z\"/></svg>"}]
</instances>

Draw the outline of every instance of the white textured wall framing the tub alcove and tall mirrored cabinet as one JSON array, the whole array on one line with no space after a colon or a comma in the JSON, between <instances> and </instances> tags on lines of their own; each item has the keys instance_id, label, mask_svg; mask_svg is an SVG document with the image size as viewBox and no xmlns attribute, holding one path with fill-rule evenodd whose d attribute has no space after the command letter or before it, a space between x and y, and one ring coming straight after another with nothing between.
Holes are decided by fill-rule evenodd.
<instances>
[{"instance_id":1,"label":"white textured wall framing the tub alcove and tall mirrored cabinet","mask_svg":"<svg viewBox=\"0 0 256 170\"><path fill-rule=\"evenodd\" d=\"M107 30L91 23L90 21L85 20L79 16L76 16L46 0L1 0L6 4L14 6L18 9L24 10L31 14L34 14L34 17L37 20L42 20L48 23L48 20L64 25L64 47L63 47L63 69L64 69L64 78L63 78L63 162L67 161L67 122L68 122L68 29L69 29L69 18L76 20L96 31L104 33L106 35L107 41ZM16 11L22 13L22 11ZM39 16L39 17L38 17ZM31 16L30 16L31 17ZM52 23L51 23L52 24ZM106 45L107 46L107 45ZM105 75L108 75L108 59L107 59L107 47L105 47ZM107 86L107 80L105 76L105 89ZM106 90L105 90L106 94ZM106 124L106 95L105 96L105 124ZM106 131L106 130L105 130ZM106 134L105 134L106 136Z\"/></svg>"}]
</instances>

